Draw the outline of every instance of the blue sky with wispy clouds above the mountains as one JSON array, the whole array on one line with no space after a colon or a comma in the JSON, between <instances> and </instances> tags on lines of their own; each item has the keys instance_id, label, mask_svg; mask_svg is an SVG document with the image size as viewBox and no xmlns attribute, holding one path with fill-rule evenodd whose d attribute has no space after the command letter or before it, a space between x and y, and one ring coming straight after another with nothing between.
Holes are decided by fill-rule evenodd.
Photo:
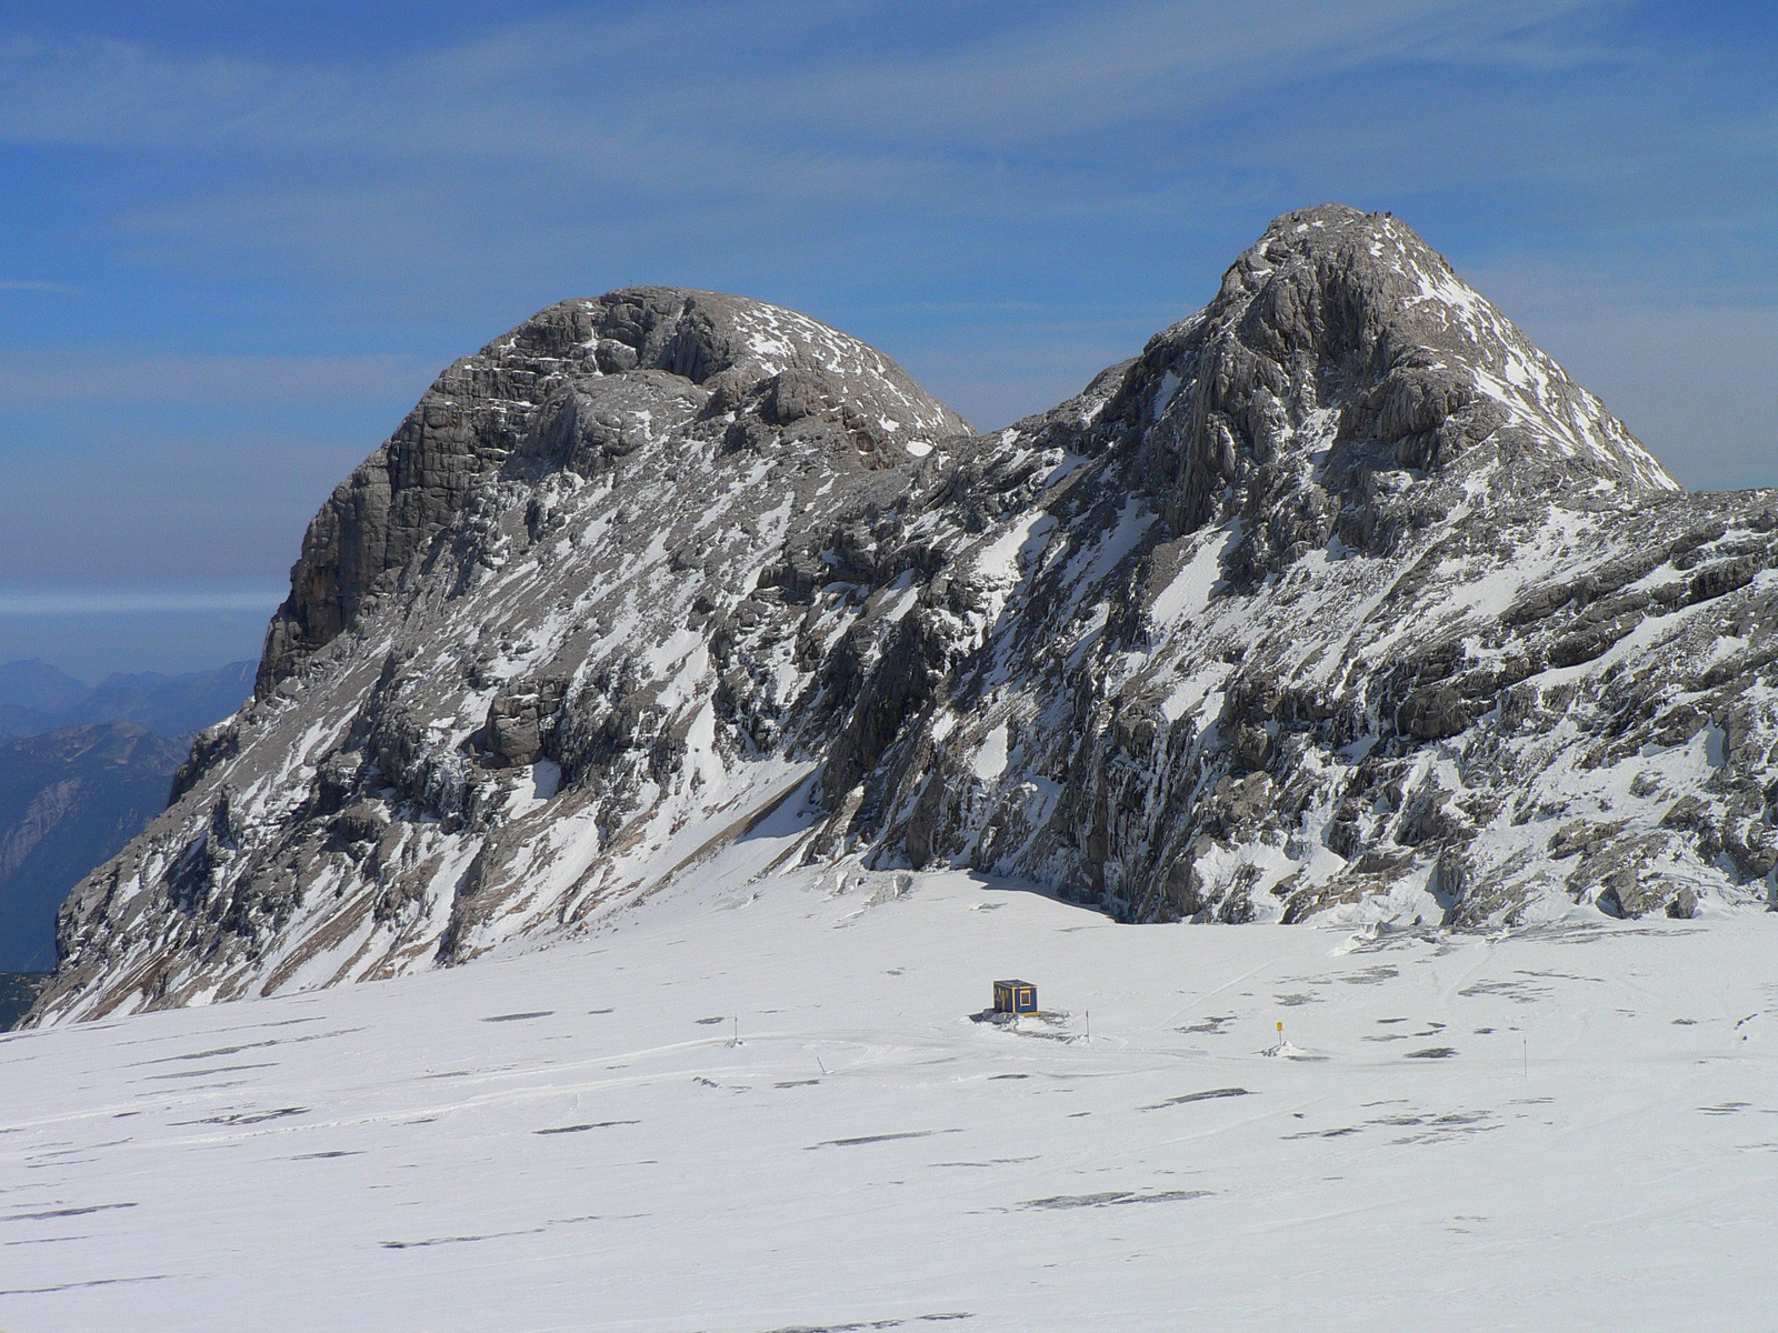
<instances>
[{"instance_id":1,"label":"blue sky with wispy clouds above the mountains","mask_svg":"<svg viewBox=\"0 0 1778 1333\"><path fill-rule=\"evenodd\" d=\"M795 306L994 427L1328 199L1778 483L1769 4L0 4L0 658L85 675L256 652L332 483L551 300Z\"/></svg>"}]
</instances>

